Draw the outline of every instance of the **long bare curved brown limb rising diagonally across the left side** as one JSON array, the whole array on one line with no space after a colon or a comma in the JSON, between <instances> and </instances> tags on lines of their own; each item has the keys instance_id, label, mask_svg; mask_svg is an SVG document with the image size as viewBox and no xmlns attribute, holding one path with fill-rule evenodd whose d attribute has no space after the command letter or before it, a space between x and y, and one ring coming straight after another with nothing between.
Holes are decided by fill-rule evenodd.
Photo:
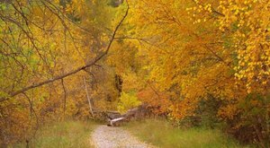
<instances>
[{"instance_id":1,"label":"long bare curved brown limb rising diagonally across the left side","mask_svg":"<svg viewBox=\"0 0 270 148\"><path fill-rule=\"evenodd\" d=\"M47 84L47 83L53 83L55 81L58 81L58 80L61 80L69 75L72 75L72 74L76 74L82 70L85 70L85 68L87 67L90 67L90 66L93 66L95 65L99 60L101 60L104 56L106 56L110 50L110 48L112 47L112 42L113 40L115 39L115 35L117 33L117 31L119 30L122 22L124 22L124 20L126 19L126 17L128 16L128 13L129 13L129 10L130 10L130 6L129 6L129 3L128 1L126 0L126 3L127 3L127 10L125 12L125 14L123 15L123 17L121 18L121 21L117 24L117 26L115 27L115 29L113 30L112 32L112 38L110 39L109 41L109 44L106 48L106 50L103 52L103 54L101 54L99 57L96 57L93 61L87 63L86 65L83 65L83 66L80 66L80 67L77 67L75 70L73 71L70 71L66 74L61 74L61 75L58 75L58 76L55 76L49 80L46 80L46 81L43 81L43 82L40 82L40 83L34 83L34 84L31 84L30 86L27 86L27 87L24 87L23 89L19 90L19 91L14 91L14 92L10 92L8 95L7 98L0 98L0 102L4 101L4 100L9 100L10 98L18 95L18 94L21 94L23 93L24 91L28 91L28 90L31 90L31 89L34 89L34 88L37 88L37 87L40 87L44 84Z\"/></svg>"}]
</instances>

